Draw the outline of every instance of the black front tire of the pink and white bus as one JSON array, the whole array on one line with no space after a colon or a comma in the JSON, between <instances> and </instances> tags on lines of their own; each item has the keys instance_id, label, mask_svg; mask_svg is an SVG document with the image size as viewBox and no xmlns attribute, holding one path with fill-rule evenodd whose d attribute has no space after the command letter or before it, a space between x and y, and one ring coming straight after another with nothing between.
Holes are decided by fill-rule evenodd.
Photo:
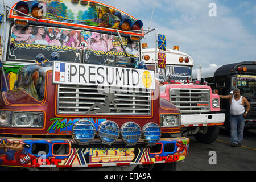
<instances>
[{"instance_id":1,"label":"black front tire of the pink and white bus","mask_svg":"<svg viewBox=\"0 0 256 182\"><path fill-rule=\"evenodd\" d=\"M220 131L220 128L217 125L208 126L207 133L205 134L197 133L194 135L194 137L197 140L197 142L209 144L214 142L217 139L219 131Z\"/></svg>"}]
</instances>

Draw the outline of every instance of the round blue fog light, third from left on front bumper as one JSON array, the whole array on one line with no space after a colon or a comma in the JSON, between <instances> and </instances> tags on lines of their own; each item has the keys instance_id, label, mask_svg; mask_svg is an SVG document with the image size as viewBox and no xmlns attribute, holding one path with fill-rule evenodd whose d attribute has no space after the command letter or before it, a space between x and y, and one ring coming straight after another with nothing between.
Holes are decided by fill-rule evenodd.
<instances>
[{"instance_id":1,"label":"round blue fog light, third from left on front bumper","mask_svg":"<svg viewBox=\"0 0 256 182\"><path fill-rule=\"evenodd\" d=\"M135 122L127 122L121 127L121 137L123 142L133 145L141 138L141 127Z\"/></svg>"}]
</instances>

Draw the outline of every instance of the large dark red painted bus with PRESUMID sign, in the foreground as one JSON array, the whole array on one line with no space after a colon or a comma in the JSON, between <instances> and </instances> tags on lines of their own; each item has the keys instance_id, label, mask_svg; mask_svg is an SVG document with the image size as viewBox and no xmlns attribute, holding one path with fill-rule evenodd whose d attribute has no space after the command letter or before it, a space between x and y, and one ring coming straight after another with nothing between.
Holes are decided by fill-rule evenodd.
<instances>
[{"instance_id":1,"label":"large dark red painted bus with PRESUMID sign, in the foreground","mask_svg":"<svg viewBox=\"0 0 256 182\"><path fill-rule=\"evenodd\" d=\"M170 170L180 111L141 55L141 20L83 0L5 5L0 168Z\"/></svg>"}]
</instances>

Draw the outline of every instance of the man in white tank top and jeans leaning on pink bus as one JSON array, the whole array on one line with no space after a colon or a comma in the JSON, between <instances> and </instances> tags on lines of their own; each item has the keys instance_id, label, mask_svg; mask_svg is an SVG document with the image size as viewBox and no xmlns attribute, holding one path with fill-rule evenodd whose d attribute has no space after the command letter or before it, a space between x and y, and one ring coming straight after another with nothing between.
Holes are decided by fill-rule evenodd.
<instances>
[{"instance_id":1,"label":"man in white tank top and jeans leaning on pink bus","mask_svg":"<svg viewBox=\"0 0 256 182\"><path fill-rule=\"evenodd\" d=\"M220 95L220 98L229 99L231 146L241 146L241 142L243 140L243 128L245 127L245 118L250 110L250 103L245 97L240 95L240 89L238 88L233 90L233 95ZM246 111L244 105L246 105Z\"/></svg>"}]
</instances>

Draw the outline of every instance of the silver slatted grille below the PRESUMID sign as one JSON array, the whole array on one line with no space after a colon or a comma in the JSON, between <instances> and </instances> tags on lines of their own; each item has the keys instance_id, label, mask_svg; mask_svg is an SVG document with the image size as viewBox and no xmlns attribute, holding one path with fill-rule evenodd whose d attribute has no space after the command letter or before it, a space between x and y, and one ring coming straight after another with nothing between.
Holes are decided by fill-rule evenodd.
<instances>
[{"instance_id":1,"label":"silver slatted grille below the PRESUMID sign","mask_svg":"<svg viewBox=\"0 0 256 182\"><path fill-rule=\"evenodd\" d=\"M151 91L142 89L113 89L115 100L106 106L104 88L84 85L58 86L57 111L59 114L82 114L94 107L96 115L151 115ZM99 111L100 107L110 108L108 112ZM116 106L116 107L115 107ZM118 110L117 110L118 109Z\"/></svg>"}]
</instances>

